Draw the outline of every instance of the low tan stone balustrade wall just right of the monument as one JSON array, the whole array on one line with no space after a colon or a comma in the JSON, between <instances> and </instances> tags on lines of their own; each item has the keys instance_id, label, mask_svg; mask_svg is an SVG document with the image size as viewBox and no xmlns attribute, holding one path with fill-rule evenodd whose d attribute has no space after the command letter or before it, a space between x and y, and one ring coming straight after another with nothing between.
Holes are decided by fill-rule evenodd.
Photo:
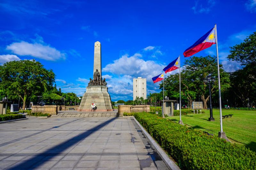
<instances>
[{"instance_id":1,"label":"low tan stone balustrade wall just right of the monument","mask_svg":"<svg viewBox=\"0 0 256 170\"><path fill-rule=\"evenodd\" d=\"M121 117L123 117L124 112L132 113L132 112L149 112L150 105L118 105L118 113Z\"/></svg>"}]
</instances>

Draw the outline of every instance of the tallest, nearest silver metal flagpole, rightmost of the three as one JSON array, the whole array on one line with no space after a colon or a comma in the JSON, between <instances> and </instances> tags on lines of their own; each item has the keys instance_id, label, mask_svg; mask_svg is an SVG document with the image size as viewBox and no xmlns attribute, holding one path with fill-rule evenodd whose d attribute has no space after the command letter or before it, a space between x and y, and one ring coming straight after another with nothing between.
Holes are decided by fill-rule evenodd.
<instances>
[{"instance_id":1,"label":"tallest, nearest silver metal flagpole, rightmost of the three","mask_svg":"<svg viewBox=\"0 0 256 170\"><path fill-rule=\"evenodd\" d=\"M220 66L219 66L219 51L218 51L218 38L217 38L217 25L214 26L215 29L215 41L216 41L216 50L217 50L217 64L218 64L218 84L219 84L219 103L220 103L220 132L219 137L228 140L225 132L222 129L222 111L221 111L221 92L220 92Z\"/></svg>"}]
</instances>

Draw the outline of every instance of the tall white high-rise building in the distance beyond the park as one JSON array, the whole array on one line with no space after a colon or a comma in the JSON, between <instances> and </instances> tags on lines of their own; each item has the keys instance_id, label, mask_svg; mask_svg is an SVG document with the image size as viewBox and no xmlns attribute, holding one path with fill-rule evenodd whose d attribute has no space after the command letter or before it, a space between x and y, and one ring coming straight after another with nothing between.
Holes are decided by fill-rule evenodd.
<instances>
[{"instance_id":1,"label":"tall white high-rise building in the distance beyond the park","mask_svg":"<svg viewBox=\"0 0 256 170\"><path fill-rule=\"evenodd\" d=\"M146 78L138 77L133 79L133 100L136 97L143 97L147 99L147 82Z\"/></svg>"}]
</instances>

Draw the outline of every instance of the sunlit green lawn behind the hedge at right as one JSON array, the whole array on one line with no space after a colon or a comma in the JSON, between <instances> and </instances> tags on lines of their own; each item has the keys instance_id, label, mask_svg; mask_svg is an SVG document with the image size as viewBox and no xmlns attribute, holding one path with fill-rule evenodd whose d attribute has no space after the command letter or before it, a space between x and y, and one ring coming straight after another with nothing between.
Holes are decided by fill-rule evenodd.
<instances>
[{"instance_id":1,"label":"sunlit green lawn behind the hedge at right","mask_svg":"<svg viewBox=\"0 0 256 170\"><path fill-rule=\"evenodd\" d=\"M209 110L204 110L204 114L182 115L184 124L202 131L207 131L218 135L220 131L220 111L213 109L215 121L208 121ZM234 114L231 118L222 119L223 131L232 142L244 144L252 151L256 151L256 112L246 110L222 110L222 115ZM168 117L168 119L178 122L180 116Z\"/></svg>"}]
</instances>

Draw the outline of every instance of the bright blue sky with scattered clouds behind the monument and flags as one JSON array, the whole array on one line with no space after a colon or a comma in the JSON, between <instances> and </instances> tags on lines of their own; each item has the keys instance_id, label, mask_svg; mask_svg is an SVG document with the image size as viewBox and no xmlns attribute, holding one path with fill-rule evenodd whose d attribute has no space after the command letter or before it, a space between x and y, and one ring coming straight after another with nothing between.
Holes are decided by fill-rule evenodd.
<instances>
[{"instance_id":1,"label":"bright blue sky with scattered clouds behind the monument and flags","mask_svg":"<svg viewBox=\"0 0 256 170\"><path fill-rule=\"evenodd\" d=\"M0 1L0 64L36 59L56 74L62 92L82 96L100 41L102 76L113 101L132 99L132 79L151 78L217 24L220 62L229 47L256 30L256 0L220 1ZM216 45L196 56L216 55Z\"/></svg>"}]
</instances>

